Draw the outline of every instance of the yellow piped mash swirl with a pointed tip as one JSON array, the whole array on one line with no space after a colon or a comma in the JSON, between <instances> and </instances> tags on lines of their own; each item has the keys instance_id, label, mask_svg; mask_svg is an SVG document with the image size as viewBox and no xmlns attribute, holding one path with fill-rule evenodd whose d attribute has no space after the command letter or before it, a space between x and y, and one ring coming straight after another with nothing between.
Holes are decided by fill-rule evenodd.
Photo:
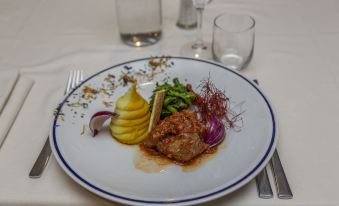
<instances>
[{"instance_id":1,"label":"yellow piped mash swirl with a pointed tip","mask_svg":"<svg viewBox=\"0 0 339 206\"><path fill-rule=\"evenodd\" d=\"M149 105L137 92L135 83L118 98L114 112L118 116L111 120L110 130L119 142L137 144L148 136Z\"/></svg>"}]
</instances>

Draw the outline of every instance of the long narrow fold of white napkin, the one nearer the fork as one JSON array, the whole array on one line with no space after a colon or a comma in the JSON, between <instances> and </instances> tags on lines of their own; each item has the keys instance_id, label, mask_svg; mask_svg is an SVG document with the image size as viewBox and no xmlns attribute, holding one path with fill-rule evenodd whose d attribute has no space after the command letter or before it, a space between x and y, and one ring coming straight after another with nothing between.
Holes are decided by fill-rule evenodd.
<instances>
[{"instance_id":1,"label":"long narrow fold of white napkin, the one nearer the fork","mask_svg":"<svg viewBox=\"0 0 339 206\"><path fill-rule=\"evenodd\" d=\"M16 86L7 100L6 106L0 114L0 147L10 131L33 84L33 80L27 77L19 77Z\"/></svg>"}]
</instances>

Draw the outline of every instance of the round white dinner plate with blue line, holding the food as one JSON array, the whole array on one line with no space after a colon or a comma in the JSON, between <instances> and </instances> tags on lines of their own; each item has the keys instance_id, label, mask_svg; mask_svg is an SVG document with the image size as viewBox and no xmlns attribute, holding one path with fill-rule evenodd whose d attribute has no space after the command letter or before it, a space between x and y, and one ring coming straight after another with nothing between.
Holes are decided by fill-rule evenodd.
<instances>
[{"instance_id":1,"label":"round white dinner plate with blue line, holding the food","mask_svg":"<svg viewBox=\"0 0 339 206\"><path fill-rule=\"evenodd\" d=\"M72 108L85 86L108 85L108 74L116 78L121 72L147 70L149 58L112 66L86 79L62 103L50 135L53 153L61 168L77 183L106 199L131 205L191 205L216 199L240 188L254 178L269 161L276 144L276 119L263 92L239 73L219 64L198 59L171 57L170 68L154 77L139 79L139 93L148 99L155 87L167 77L196 88L209 75L219 89L225 89L236 107L243 103L243 127L240 132L227 130L216 155L195 170L184 171L170 165L160 172L146 173L134 167L137 146L127 146L113 139L108 130L95 138L86 126L90 116L106 108L103 101L115 101L128 87L119 86L111 98L98 95L88 108ZM173 65L172 65L173 64ZM126 66L132 67L127 70ZM158 69L159 70L159 69Z\"/></svg>"}]
</instances>

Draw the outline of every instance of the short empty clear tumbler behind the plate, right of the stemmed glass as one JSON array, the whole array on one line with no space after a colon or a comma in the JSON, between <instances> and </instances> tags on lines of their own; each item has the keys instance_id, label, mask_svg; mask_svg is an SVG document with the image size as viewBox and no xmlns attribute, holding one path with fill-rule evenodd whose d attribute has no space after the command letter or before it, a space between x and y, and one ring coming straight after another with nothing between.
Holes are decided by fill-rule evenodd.
<instances>
[{"instance_id":1,"label":"short empty clear tumbler behind the plate, right of the stemmed glass","mask_svg":"<svg viewBox=\"0 0 339 206\"><path fill-rule=\"evenodd\" d=\"M214 20L212 54L230 69L241 70L252 59L255 20L242 14L221 14Z\"/></svg>"}]
</instances>

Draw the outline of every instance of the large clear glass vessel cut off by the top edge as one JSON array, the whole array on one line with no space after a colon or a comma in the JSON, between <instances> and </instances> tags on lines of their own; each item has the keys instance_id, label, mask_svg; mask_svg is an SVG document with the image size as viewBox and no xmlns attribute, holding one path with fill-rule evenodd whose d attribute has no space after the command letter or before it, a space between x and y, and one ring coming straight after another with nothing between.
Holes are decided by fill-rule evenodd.
<instances>
[{"instance_id":1,"label":"large clear glass vessel cut off by the top edge","mask_svg":"<svg viewBox=\"0 0 339 206\"><path fill-rule=\"evenodd\" d=\"M152 45L161 39L161 0L116 0L121 40L130 46Z\"/></svg>"}]
</instances>

